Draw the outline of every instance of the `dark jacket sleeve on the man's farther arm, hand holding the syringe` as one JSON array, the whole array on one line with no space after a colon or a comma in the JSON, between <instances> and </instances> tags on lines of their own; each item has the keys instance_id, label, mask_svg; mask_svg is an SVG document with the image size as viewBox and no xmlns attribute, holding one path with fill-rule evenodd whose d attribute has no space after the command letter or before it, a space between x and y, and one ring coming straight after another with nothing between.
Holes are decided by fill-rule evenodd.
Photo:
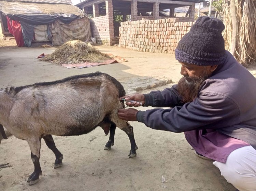
<instances>
[{"instance_id":1,"label":"dark jacket sleeve on the man's farther arm, hand holding the syringe","mask_svg":"<svg viewBox=\"0 0 256 191\"><path fill-rule=\"evenodd\" d=\"M177 85L166 88L163 91L151 91L144 94L145 104L143 106L152 107L174 107L181 104L181 96L177 92Z\"/></svg>"}]
</instances>

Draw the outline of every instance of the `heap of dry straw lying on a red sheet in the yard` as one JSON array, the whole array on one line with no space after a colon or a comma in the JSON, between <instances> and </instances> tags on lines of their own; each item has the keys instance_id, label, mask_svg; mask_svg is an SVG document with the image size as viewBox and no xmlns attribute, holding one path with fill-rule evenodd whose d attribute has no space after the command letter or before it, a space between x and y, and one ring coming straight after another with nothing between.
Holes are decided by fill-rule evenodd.
<instances>
[{"instance_id":1,"label":"heap of dry straw lying on a red sheet in the yard","mask_svg":"<svg viewBox=\"0 0 256 191\"><path fill-rule=\"evenodd\" d=\"M71 40L57 48L52 54L48 54L41 60L61 64L80 64L84 62L101 63L111 59L107 54L101 53L90 44L81 40Z\"/></svg>"}]
</instances>

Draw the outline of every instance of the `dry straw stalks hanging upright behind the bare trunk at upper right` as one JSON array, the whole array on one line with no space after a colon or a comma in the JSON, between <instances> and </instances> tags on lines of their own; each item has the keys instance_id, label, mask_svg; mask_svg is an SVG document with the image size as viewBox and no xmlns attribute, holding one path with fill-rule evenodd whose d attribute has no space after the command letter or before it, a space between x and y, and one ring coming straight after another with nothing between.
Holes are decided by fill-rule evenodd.
<instances>
[{"instance_id":1,"label":"dry straw stalks hanging upright behind the bare trunk at upper right","mask_svg":"<svg viewBox=\"0 0 256 191\"><path fill-rule=\"evenodd\" d=\"M256 64L256 0L235 0L238 35L234 56L239 63L248 67ZM223 16L225 22L224 39L226 49L231 48L232 23L230 1L223 1Z\"/></svg>"}]
</instances>

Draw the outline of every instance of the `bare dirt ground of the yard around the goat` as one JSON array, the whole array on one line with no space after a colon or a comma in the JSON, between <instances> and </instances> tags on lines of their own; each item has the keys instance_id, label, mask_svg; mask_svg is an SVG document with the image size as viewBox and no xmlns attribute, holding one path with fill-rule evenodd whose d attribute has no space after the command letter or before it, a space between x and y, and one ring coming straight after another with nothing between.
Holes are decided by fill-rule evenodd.
<instances>
[{"instance_id":1,"label":"bare dirt ground of the yard around the goat","mask_svg":"<svg viewBox=\"0 0 256 191\"><path fill-rule=\"evenodd\" d=\"M147 78L153 77L160 81L168 78L176 83L181 77L180 64L174 55L136 52L118 47L97 48L102 52L125 57L128 62L67 69L34 58L41 53L51 53L55 48L0 47L0 88L53 81L95 71L112 75L125 84L125 89L129 89L133 85L130 82L135 83L136 79L147 83ZM250 71L256 74L255 68ZM157 89L169 86L171 84ZM0 190L236 190L221 176L212 161L198 158L194 154L183 133L156 131L139 122L131 122L131 125L139 147L135 158L128 158L129 139L118 128L111 151L103 150L108 137L100 127L81 136L54 136L56 146L64 156L63 166L58 169L53 168L54 154L42 141L40 163L43 175L39 183L33 186L26 182L33 172L27 142L14 136L2 140L0 164L9 163L11 167L0 169ZM165 181L162 181L162 177Z\"/></svg>"}]
</instances>

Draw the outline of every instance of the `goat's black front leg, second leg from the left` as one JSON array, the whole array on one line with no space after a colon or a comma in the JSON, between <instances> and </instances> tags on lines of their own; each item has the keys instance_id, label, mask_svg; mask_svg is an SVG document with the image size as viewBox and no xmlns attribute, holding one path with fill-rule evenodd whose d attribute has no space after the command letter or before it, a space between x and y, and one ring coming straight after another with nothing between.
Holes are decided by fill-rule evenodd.
<instances>
[{"instance_id":1,"label":"goat's black front leg, second leg from the left","mask_svg":"<svg viewBox=\"0 0 256 191\"><path fill-rule=\"evenodd\" d=\"M63 159L63 155L59 152L59 150L56 148L54 140L52 135L45 135L43 137L46 145L48 146L49 149L51 149L53 151L53 153L55 154L55 162L54 162L54 168L59 168L62 166L62 159Z\"/></svg>"}]
</instances>

